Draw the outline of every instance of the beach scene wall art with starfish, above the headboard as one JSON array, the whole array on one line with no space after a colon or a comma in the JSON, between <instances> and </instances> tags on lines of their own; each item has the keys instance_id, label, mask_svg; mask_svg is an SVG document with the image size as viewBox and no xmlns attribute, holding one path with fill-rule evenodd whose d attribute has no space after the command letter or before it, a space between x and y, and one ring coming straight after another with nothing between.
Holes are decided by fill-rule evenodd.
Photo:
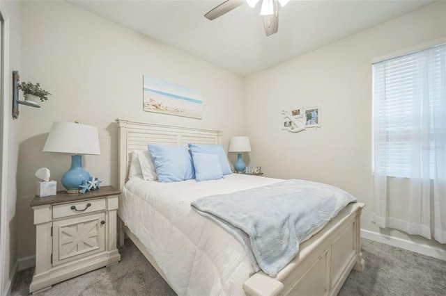
<instances>
[{"instance_id":1,"label":"beach scene wall art with starfish, above the headboard","mask_svg":"<svg viewBox=\"0 0 446 296\"><path fill-rule=\"evenodd\" d=\"M143 110L198 118L202 116L201 92L183 85L143 76Z\"/></svg>"}]
</instances>

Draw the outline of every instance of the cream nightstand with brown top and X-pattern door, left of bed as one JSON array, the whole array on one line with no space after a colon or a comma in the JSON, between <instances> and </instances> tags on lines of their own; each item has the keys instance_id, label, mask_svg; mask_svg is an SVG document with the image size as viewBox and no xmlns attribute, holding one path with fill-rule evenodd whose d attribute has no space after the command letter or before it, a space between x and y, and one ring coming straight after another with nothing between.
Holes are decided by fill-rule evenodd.
<instances>
[{"instance_id":1,"label":"cream nightstand with brown top and X-pattern door, left of bed","mask_svg":"<svg viewBox=\"0 0 446 296\"><path fill-rule=\"evenodd\" d=\"M29 293L121 260L116 248L119 194L104 186L85 194L34 197L36 270Z\"/></svg>"}]
</instances>

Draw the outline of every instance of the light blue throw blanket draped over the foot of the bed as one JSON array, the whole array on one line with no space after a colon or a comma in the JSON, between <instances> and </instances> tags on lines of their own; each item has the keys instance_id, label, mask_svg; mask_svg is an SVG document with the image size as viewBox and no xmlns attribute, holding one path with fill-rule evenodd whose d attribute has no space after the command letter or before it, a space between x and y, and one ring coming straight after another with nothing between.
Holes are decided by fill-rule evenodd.
<instances>
[{"instance_id":1,"label":"light blue throw blanket draped over the foot of the bed","mask_svg":"<svg viewBox=\"0 0 446 296\"><path fill-rule=\"evenodd\" d=\"M242 243L254 271L275 277L298 254L302 239L351 202L355 197L337 187L291 179L203 197L191 206Z\"/></svg>"}]
</instances>

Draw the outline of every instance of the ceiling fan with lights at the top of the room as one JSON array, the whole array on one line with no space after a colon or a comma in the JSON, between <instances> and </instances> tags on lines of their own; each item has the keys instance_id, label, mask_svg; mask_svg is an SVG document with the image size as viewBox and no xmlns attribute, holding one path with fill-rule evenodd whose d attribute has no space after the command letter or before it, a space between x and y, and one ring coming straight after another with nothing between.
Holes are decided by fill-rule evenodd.
<instances>
[{"instance_id":1,"label":"ceiling fan with lights at the top of the room","mask_svg":"<svg viewBox=\"0 0 446 296\"><path fill-rule=\"evenodd\" d=\"M229 11L234 8L238 8L238 6L245 3L245 1L252 8L259 2L259 0L226 0L219 6L213 8L213 10L210 10L204 16L212 21L217 17L221 17L225 13L229 13ZM267 36L277 33L277 30L279 29L279 11L277 10L277 2L280 3L280 6L284 7L288 1L289 0L262 0L260 14L263 15L263 26L265 27Z\"/></svg>"}]
</instances>

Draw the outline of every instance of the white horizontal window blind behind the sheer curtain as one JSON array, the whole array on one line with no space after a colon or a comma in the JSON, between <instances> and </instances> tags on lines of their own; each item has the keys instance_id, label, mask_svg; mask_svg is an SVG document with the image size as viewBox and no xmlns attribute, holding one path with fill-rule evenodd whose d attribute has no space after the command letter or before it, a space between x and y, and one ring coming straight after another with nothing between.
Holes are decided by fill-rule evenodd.
<instances>
[{"instance_id":1,"label":"white horizontal window blind behind the sheer curtain","mask_svg":"<svg viewBox=\"0 0 446 296\"><path fill-rule=\"evenodd\" d=\"M443 44L373 64L375 174L436 173L436 153L429 151L444 145L446 126L435 120L446 115L445 55Z\"/></svg>"}]
</instances>

